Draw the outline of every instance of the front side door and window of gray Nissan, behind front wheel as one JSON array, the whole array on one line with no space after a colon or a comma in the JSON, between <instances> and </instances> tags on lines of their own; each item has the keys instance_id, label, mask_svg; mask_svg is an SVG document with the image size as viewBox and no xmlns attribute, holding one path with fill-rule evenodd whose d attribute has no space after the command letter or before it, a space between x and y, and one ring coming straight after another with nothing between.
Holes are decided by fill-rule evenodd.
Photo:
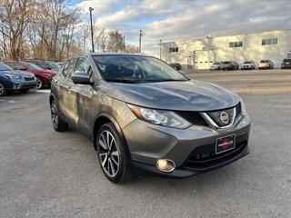
<instances>
[{"instance_id":1,"label":"front side door and window of gray Nissan, behind front wheel","mask_svg":"<svg viewBox=\"0 0 291 218\"><path fill-rule=\"evenodd\" d=\"M86 57L77 58L74 74L76 73L88 74L91 80L94 80L92 65ZM92 111L92 96L94 94L93 87L90 84L73 84L71 92L75 96L75 124L88 131Z\"/></svg>"}]
</instances>

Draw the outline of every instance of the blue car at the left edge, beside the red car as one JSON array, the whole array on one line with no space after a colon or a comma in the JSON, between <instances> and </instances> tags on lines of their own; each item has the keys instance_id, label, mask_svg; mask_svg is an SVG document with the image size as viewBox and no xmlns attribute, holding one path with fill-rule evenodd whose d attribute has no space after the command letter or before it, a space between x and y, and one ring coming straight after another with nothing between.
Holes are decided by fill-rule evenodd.
<instances>
[{"instance_id":1,"label":"blue car at the left edge, beside the red car","mask_svg":"<svg viewBox=\"0 0 291 218\"><path fill-rule=\"evenodd\" d=\"M26 92L36 86L35 74L15 71L6 64L0 63L0 96L10 92Z\"/></svg>"}]
</instances>

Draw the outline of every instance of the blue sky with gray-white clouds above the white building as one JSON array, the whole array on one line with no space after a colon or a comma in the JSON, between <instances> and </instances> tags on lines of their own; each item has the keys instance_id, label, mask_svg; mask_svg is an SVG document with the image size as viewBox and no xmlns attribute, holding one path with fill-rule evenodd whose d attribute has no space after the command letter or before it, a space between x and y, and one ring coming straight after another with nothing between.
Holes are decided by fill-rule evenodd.
<instances>
[{"instance_id":1,"label":"blue sky with gray-white clouds above the white building","mask_svg":"<svg viewBox=\"0 0 291 218\"><path fill-rule=\"evenodd\" d=\"M171 42L206 35L236 35L291 29L291 0L74 0L96 27L118 30L125 43L158 55L159 40Z\"/></svg>"}]
</instances>

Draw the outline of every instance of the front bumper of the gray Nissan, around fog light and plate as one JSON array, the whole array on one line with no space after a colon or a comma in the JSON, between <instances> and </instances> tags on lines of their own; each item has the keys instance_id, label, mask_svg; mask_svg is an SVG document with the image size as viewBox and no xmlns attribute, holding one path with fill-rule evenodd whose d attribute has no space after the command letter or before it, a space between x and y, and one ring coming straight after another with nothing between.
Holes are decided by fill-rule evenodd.
<instances>
[{"instance_id":1,"label":"front bumper of the gray Nissan, around fog light and plate","mask_svg":"<svg viewBox=\"0 0 291 218\"><path fill-rule=\"evenodd\" d=\"M238 116L229 129L215 130L193 125L185 130L148 124L136 119L124 128L125 140L135 168L170 177L187 177L206 173L246 156L250 121L248 116ZM215 154L216 139L236 134L236 148ZM209 154L207 158L196 156ZM210 155L211 154L211 155ZM156 168L158 159L170 159L176 170L163 173Z\"/></svg>"}]
</instances>

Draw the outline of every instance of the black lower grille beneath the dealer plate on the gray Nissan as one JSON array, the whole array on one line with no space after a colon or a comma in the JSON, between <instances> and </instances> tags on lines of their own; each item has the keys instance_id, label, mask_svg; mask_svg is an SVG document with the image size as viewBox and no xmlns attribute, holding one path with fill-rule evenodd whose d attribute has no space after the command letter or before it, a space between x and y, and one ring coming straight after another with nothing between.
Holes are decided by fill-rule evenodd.
<instances>
[{"instance_id":1,"label":"black lower grille beneath the dealer plate on the gray Nissan","mask_svg":"<svg viewBox=\"0 0 291 218\"><path fill-rule=\"evenodd\" d=\"M197 147L192 154L189 155L184 166L192 170L204 170L216 166L219 163L224 163L227 160L235 158L237 155L243 153L246 149L247 143L243 141L236 144L235 149L229 150L225 153L216 154L216 144L208 144Z\"/></svg>"}]
</instances>

